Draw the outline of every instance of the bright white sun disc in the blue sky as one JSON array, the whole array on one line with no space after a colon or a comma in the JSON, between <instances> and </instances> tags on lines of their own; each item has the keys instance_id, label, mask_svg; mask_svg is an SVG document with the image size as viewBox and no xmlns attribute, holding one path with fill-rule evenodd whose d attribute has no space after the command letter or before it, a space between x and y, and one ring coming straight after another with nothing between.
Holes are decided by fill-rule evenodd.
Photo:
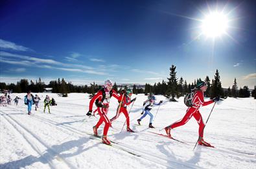
<instances>
[{"instance_id":1,"label":"bright white sun disc in the blue sky","mask_svg":"<svg viewBox=\"0 0 256 169\"><path fill-rule=\"evenodd\" d=\"M202 21L202 34L207 37L218 37L226 33L227 17L220 12L211 12Z\"/></svg>"}]
</instances>

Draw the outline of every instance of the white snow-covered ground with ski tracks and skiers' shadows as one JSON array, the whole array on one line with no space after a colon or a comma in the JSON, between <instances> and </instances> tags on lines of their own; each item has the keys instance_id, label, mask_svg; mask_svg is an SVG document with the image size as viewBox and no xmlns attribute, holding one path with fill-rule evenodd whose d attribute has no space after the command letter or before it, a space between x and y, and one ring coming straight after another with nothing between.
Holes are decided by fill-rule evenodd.
<instances>
[{"instance_id":1,"label":"white snow-covered ground with ski tracks and skiers' shadows","mask_svg":"<svg viewBox=\"0 0 256 169\"><path fill-rule=\"evenodd\" d=\"M12 99L18 95L11 94ZM149 129L149 116L137 125L141 116L141 107L145 95L133 95L137 100L130 112L131 128L135 133L122 130L124 115L112 123L108 138L116 142L113 146L102 144L93 137L92 127L99 115L87 117L88 94L69 94L69 97L58 97L58 106L51 106L52 114L43 114L43 99L40 95L40 109L36 112L34 105L32 115L27 115L27 106L23 99L18 106L1 106L1 144L0 168L255 168L255 100L253 98L227 98L216 104L205 127L204 139L216 148L197 146L198 124L191 120L171 131L180 143L151 132L164 134L162 128L178 121L185 114L186 106L183 97L177 103L165 102L157 95L157 102L163 99L161 106L152 109L156 115ZM108 117L113 117L117 101L111 98ZM131 104L132 105L132 104ZM200 112L206 121L213 104L204 106ZM130 106L128 107L130 110ZM47 111L46 111L47 112ZM99 134L102 135L102 128ZM126 126L124 127L124 129ZM159 131L161 130L161 131ZM126 152L126 151L130 152Z\"/></svg>"}]
</instances>

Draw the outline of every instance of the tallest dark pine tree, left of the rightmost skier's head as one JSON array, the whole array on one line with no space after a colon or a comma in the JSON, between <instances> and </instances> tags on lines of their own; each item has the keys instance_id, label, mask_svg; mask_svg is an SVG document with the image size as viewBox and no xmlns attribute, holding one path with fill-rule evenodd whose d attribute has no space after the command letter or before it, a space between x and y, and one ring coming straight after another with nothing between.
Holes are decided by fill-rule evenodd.
<instances>
[{"instance_id":1,"label":"tallest dark pine tree, left of the rightmost skier's head","mask_svg":"<svg viewBox=\"0 0 256 169\"><path fill-rule=\"evenodd\" d=\"M172 67L170 67L170 78L167 78L169 80L167 97L169 98L170 101L176 101L174 97L178 95L178 92L177 92L178 84L177 84L175 70L176 70L176 66L172 65Z\"/></svg>"}]
</instances>

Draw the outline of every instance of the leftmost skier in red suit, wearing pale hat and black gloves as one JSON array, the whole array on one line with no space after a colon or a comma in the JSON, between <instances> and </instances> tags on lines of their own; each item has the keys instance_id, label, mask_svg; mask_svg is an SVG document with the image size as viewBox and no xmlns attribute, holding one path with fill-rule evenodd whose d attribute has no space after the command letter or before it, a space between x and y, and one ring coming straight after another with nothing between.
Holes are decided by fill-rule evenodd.
<instances>
[{"instance_id":1,"label":"leftmost skier in red suit, wearing pale hat and black gloves","mask_svg":"<svg viewBox=\"0 0 256 169\"><path fill-rule=\"evenodd\" d=\"M102 136L102 143L104 144L111 144L110 141L107 138L108 135L108 128L110 128L111 122L110 119L108 119L108 107L110 104L110 98L111 96L115 97L116 99L119 99L119 95L115 90L112 89L113 84L110 80L106 80L104 82L104 88L102 90L99 90L96 95L94 95L91 98L91 101L89 103L89 111L86 115L90 116L91 112L93 111L93 103L95 102L97 106L97 111L100 115L100 119L98 123L93 126L93 133L94 135L98 135L97 129L99 128L100 124L103 122L105 123L104 130L103 130L103 136Z\"/></svg>"}]
</instances>

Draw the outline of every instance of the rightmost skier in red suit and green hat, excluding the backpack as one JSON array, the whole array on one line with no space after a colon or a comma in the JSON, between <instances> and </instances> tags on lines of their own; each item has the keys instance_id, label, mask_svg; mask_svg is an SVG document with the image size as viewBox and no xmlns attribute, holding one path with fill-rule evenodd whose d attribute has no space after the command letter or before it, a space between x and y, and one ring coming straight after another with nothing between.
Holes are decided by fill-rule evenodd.
<instances>
[{"instance_id":1,"label":"rightmost skier in red suit and green hat, excluding the backpack","mask_svg":"<svg viewBox=\"0 0 256 169\"><path fill-rule=\"evenodd\" d=\"M192 106L187 108L187 112L185 114L185 116L183 117L183 119L181 119L181 121L175 122L170 124L169 126L165 127L165 132L167 133L167 135L169 137L171 137L170 135L170 130L172 130L173 128L176 128L178 126L182 126L184 124L186 124L189 119L191 119L192 116L194 116L194 119L196 119L197 123L199 124L199 141L198 144L200 145L204 145L204 146L211 146L211 144L207 143L206 141L204 141L204 121L202 119L202 115L199 112L199 108L200 106L207 106L208 104L214 103L216 101L219 101L220 98L219 97L215 97L213 100L210 101L204 101L204 92L207 89L207 85L204 81L198 81L196 83L196 88L194 89L194 95L192 97Z\"/></svg>"}]
</instances>

